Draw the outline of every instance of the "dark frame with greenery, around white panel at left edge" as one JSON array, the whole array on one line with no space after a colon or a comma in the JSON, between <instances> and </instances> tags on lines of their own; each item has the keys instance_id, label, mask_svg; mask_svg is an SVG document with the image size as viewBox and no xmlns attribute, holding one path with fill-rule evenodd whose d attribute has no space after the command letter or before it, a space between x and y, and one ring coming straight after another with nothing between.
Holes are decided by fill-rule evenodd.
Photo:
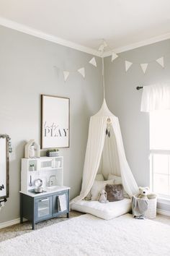
<instances>
[{"instance_id":1,"label":"dark frame with greenery, around white panel at left edge","mask_svg":"<svg viewBox=\"0 0 170 256\"><path fill-rule=\"evenodd\" d=\"M6 195L0 197L1 199L9 197L9 152L11 152L11 144L9 135L0 135L0 139L6 140ZM1 156L0 156L1 157ZM1 171L1 170L0 170Z\"/></svg>"}]
</instances>

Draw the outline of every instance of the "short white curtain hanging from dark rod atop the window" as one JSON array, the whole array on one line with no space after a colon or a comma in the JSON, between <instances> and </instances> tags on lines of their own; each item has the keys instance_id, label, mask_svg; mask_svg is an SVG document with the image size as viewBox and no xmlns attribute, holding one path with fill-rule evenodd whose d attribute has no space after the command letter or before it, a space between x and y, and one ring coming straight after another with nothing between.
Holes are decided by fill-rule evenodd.
<instances>
[{"instance_id":1,"label":"short white curtain hanging from dark rod atop the window","mask_svg":"<svg viewBox=\"0 0 170 256\"><path fill-rule=\"evenodd\" d=\"M150 112L166 109L170 109L170 86L144 86L140 111Z\"/></svg>"}]
</instances>

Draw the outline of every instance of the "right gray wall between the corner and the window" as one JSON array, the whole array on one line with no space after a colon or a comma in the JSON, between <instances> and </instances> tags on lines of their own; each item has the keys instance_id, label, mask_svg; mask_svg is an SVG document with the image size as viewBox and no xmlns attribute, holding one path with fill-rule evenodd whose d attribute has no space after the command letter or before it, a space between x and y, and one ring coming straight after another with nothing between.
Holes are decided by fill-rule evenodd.
<instances>
[{"instance_id":1,"label":"right gray wall between the corner and the window","mask_svg":"<svg viewBox=\"0 0 170 256\"><path fill-rule=\"evenodd\" d=\"M140 112L142 90L135 88L137 85L170 82L170 40L136 48L119 56L113 62L111 57L104 59L107 104L110 111L119 117L125 153L138 185L149 186L149 116ZM161 56L164 56L164 69L153 61L148 65L146 74L138 64L133 64L125 72L125 59L147 63Z\"/></svg>"}]
</instances>

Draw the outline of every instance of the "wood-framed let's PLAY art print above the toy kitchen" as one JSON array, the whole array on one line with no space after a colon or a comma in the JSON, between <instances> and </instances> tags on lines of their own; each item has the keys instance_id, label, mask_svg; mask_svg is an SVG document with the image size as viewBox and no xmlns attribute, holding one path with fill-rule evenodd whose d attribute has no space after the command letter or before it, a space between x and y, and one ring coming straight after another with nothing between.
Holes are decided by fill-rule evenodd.
<instances>
[{"instance_id":1,"label":"wood-framed let's PLAY art print above the toy kitchen","mask_svg":"<svg viewBox=\"0 0 170 256\"><path fill-rule=\"evenodd\" d=\"M41 148L69 148L70 99L41 95Z\"/></svg>"}]
</instances>

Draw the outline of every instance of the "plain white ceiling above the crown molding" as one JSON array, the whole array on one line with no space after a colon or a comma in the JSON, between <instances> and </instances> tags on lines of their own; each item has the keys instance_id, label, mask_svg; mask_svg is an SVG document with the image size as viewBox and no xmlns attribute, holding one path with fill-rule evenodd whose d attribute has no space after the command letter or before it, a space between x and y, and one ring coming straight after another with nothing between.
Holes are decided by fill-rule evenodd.
<instances>
[{"instance_id":1,"label":"plain white ceiling above the crown molding","mask_svg":"<svg viewBox=\"0 0 170 256\"><path fill-rule=\"evenodd\" d=\"M102 38L117 52L170 38L169 0L0 0L0 16L1 25L87 52Z\"/></svg>"}]
</instances>

